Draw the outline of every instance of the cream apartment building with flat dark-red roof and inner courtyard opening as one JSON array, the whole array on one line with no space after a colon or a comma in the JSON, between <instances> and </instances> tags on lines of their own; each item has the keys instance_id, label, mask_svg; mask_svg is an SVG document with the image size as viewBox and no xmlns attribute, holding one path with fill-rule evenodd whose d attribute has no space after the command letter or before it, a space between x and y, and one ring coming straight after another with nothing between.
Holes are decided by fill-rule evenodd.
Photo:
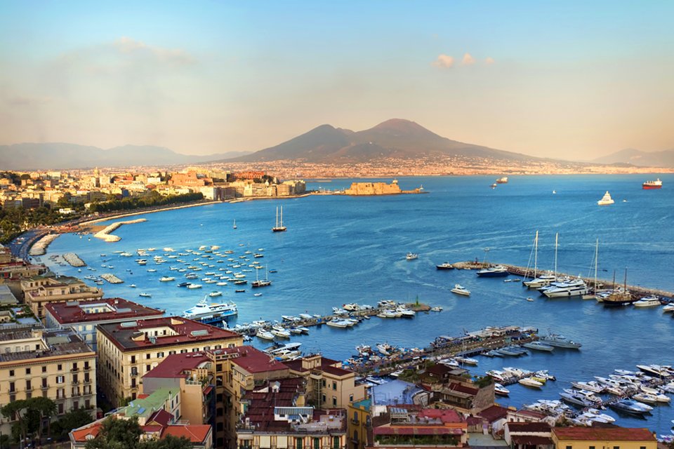
<instances>
[{"instance_id":1,"label":"cream apartment building with flat dark-red roof and inner courtyard opening","mask_svg":"<svg viewBox=\"0 0 674 449\"><path fill-rule=\"evenodd\" d=\"M171 354L241 346L241 335L178 316L97 327L99 384L113 406L135 399L140 379Z\"/></svg>"}]
</instances>

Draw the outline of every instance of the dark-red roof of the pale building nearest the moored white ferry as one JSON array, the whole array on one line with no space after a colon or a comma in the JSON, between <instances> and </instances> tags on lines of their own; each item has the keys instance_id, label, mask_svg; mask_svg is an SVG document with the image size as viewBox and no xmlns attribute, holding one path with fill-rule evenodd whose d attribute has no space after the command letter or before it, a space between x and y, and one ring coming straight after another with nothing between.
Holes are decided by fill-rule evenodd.
<instances>
[{"instance_id":1,"label":"dark-red roof of the pale building nearest the moored white ferry","mask_svg":"<svg viewBox=\"0 0 674 449\"><path fill-rule=\"evenodd\" d=\"M93 304L107 304L112 311L100 313L86 313L82 306L91 307ZM109 297L91 301L50 302L45 304L46 312L51 314L61 324L90 323L93 321L128 321L157 317L164 314L163 311L145 307L142 304L124 300L119 297ZM121 311L119 311L121 309ZM126 310L130 309L130 310Z\"/></svg>"}]
</instances>

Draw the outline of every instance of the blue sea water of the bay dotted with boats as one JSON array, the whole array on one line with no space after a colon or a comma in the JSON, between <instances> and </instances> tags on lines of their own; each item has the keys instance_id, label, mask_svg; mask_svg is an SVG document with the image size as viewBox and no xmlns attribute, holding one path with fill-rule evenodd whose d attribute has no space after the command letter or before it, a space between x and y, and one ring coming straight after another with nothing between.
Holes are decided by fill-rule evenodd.
<instances>
[{"instance_id":1,"label":"blue sea water of the bay dotted with boats","mask_svg":"<svg viewBox=\"0 0 674 449\"><path fill-rule=\"evenodd\" d=\"M659 176L661 190L642 190L641 183ZM342 189L354 180L310 182L310 189ZM385 180L390 181L390 180ZM487 260L527 266L538 231L538 267L553 269L555 234L559 234L558 269L569 274L593 276L595 241L599 240L599 277L629 284L674 290L674 175L539 175L511 176L510 182L491 189L494 177L403 177L402 189L423 185L428 194L399 196L308 196L220 203L141 215L147 222L122 226L114 234L117 243L91 236L66 234L48 248L48 255L77 253L98 271L114 272L125 283L103 286L107 297L136 300L180 314L211 290L223 290L223 300L239 306L238 322L255 319L281 320L282 314L328 314L348 302L376 304L390 299L444 307L441 313L417 314L411 320L371 319L348 330L312 328L309 335L293 337L304 351L345 359L357 344L389 342L402 347L425 347L438 335L462 335L485 326L535 326L541 333L562 333L583 344L580 351L555 349L553 354L531 352L522 358L480 357L474 373L492 368L548 369L557 376L541 390L515 384L503 405L521 406L537 398L559 398L562 388L574 380L606 376L614 368L636 369L637 363L674 365L674 318L660 308L604 309L593 300L536 297L521 283L503 279L477 279L468 270L437 271L435 264L463 260ZM612 206L597 206L609 191ZM555 193L553 193L553 191ZM275 210L283 206L288 231L272 233ZM136 218L136 217L133 217ZM237 228L232 229L236 219ZM114 220L113 220L114 221ZM90 238L91 237L91 238ZM166 264L140 267L137 248L176 251L199 246L220 246L220 251L258 252L257 259L269 269L273 284L253 297L234 293L234 286L203 284L201 290L177 288L183 281ZM485 248L488 248L485 251ZM126 250L134 257L121 257ZM407 261L406 253L418 253ZM105 253L106 257L100 254ZM176 254L176 253L174 253ZM192 257L181 257L190 260ZM148 257L151 259L151 257ZM42 260L48 260L46 256ZM114 269L101 267L114 265ZM252 261L251 257L251 261ZM226 264L214 264L218 269ZM60 274L84 276L72 267L52 265ZM156 268L156 273L147 269ZM131 272L126 270L130 269ZM204 272L209 269L204 268ZM263 272L263 270L260 270ZM173 283L159 277L176 276ZM254 279L251 272L249 279ZM129 288L135 283L138 288ZM455 283L471 290L470 297L450 293ZM151 298L138 293L151 293ZM230 323L235 324L236 321ZM253 342L257 347L268 344ZM657 406L646 420L619 416L618 424L648 427L670 434L672 406Z\"/></svg>"}]
</instances>

